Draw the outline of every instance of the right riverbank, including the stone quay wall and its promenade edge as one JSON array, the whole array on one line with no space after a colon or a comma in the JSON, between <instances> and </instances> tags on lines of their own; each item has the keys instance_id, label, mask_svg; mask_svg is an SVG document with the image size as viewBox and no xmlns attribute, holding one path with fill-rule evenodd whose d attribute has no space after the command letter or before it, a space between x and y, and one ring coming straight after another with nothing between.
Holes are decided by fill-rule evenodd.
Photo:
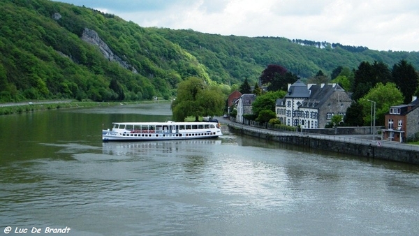
<instances>
[{"instance_id":1,"label":"right riverbank, including the stone quay wall and its promenade edge","mask_svg":"<svg viewBox=\"0 0 419 236\"><path fill-rule=\"evenodd\" d=\"M230 131L266 140L341 154L419 165L419 147L417 145L405 145L369 138L353 138L348 135L318 135L313 133L273 131L265 128L244 126L227 120L223 120L222 123L226 124Z\"/></svg>"}]
</instances>

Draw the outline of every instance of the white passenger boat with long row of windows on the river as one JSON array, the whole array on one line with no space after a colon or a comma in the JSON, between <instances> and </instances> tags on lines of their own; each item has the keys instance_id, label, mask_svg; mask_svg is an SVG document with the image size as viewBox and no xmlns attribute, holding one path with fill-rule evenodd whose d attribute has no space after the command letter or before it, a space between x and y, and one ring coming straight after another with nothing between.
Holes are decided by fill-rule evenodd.
<instances>
[{"instance_id":1,"label":"white passenger boat with long row of windows on the river","mask_svg":"<svg viewBox=\"0 0 419 236\"><path fill-rule=\"evenodd\" d=\"M114 122L112 130L102 130L102 140L189 140L217 138L220 124L214 122Z\"/></svg>"}]
</instances>

